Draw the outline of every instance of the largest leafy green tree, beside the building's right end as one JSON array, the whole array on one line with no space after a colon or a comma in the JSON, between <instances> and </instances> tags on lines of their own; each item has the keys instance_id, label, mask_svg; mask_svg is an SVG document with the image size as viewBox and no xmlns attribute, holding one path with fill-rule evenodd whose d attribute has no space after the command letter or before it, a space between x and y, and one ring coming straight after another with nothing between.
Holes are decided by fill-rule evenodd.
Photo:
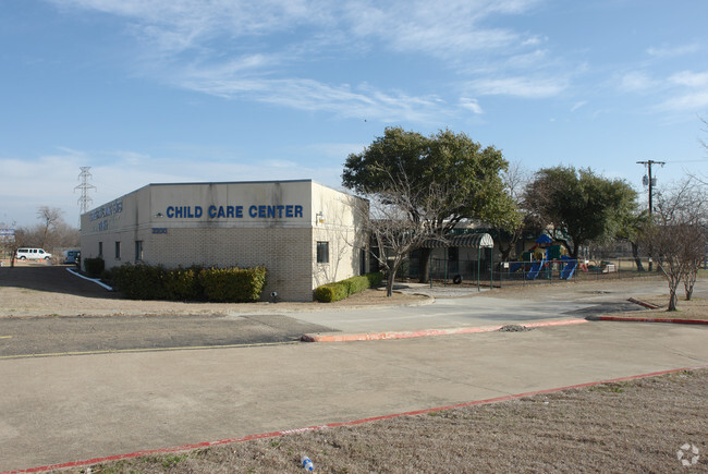
<instances>
[{"instance_id":1,"label":"largest leafy green tree, beside the building's right end","mask_svg":"<svg viewBox=\"0 0 708 474\"><path fill-rule=\"evenodd\" d=\"M515 205L501 179L508 165L499 149L483 148L464 133L443 130L426 137L388 127L364 151L347 157L342 182L363 195L390 199L395 193L392 200L405 209L413 228L444 239L463 218L516 224ZM422 248L424 282L429 255Z\"/></svg>"}]
</instances>

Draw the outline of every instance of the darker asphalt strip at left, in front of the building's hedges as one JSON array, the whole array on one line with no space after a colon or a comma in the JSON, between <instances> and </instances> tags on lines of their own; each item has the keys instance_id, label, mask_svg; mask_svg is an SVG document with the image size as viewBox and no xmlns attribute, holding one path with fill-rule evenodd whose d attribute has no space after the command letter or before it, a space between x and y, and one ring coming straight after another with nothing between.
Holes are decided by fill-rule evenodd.
<instances>
[{"instance_id":1,"label":"darker asphalt strip at left, in front of the building's hedges","mask_svg":"<svg viewBox=\"0 0 708 474\"><path fill-rule=\"evenodd\" d=\"M279 314L0 318L0 360L288 343L312 331L334 329Z\"/></svg>"}]
</instances>

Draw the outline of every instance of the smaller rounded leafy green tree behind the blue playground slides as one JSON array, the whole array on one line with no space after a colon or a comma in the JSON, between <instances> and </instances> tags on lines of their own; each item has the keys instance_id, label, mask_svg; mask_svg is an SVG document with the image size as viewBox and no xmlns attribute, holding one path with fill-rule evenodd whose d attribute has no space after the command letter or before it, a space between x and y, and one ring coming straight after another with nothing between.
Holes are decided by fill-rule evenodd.
<instances>
[{"instance_id":1,"label":"smaller rounded leafy green tree behind the blue playground slides","mask_svg":"<svg viewBox=\"0 0 708 474\"><path fill-rule=\"evenodd\" d=\"M618 235L635 199L636 192L624 180L559 166L536 172L526 186L525 208L577 258L581 246Z\"/></svg>"}]
</instances>

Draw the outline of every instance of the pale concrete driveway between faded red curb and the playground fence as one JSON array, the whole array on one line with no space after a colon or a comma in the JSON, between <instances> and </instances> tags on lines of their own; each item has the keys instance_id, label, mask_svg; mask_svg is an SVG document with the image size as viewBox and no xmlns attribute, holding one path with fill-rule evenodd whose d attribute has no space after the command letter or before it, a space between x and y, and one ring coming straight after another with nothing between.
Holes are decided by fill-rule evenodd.
<instances>
[{"instance_id":1,"label":"pale concrete driveway between faded red curb and the playground fence","mask_svg":"<svg viewBox=\"0 0 708 474\"><path fill-rule=\"evenodd\" d=\"M703 282L701 282L703 283ZM696 295L708 295L705 284ZM631 296L662 294L667 283L660 279L626 282L614 287L561 284L510 289L503 293L477 292L476 288L406 284L398 291L427 294L430 305L411 307L357 307L337 312L298 313L297 319L342 332L420 331L426 329L528 324L559 319L584 319L601 313L643 311L627 301Z\"/></svg>"}]
</instances>

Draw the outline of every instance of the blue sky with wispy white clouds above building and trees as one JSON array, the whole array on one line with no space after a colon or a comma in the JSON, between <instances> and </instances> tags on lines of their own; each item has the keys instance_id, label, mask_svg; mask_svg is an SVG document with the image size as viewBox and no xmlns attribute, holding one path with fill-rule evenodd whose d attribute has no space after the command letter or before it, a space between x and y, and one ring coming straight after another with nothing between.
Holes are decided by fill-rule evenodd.
<instances>
[{"instance_id":1,"label":"blue sky with wispy white clouds above building and trees","mask_svg":"<svg viewBox=\"0 0 708 474\"><path fill-rule=\"evenodd\" d=\"M387 126L530 172L708 173L705 0L0 0L0 224L149 183L313 179ZM644 194L646 195L646 193Z\"/></svg>"}]
</instances>

